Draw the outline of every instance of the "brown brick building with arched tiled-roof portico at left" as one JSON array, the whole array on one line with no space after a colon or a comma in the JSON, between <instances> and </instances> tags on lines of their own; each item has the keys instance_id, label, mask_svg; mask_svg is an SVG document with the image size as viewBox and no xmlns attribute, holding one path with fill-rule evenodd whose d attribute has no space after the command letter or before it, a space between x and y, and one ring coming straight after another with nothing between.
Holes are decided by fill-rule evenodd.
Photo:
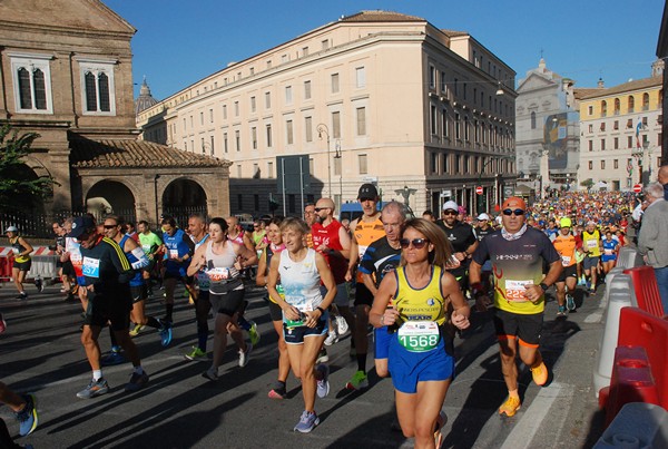
<instances>
[{"instance_id":1,"label":"brown brick building with arched tiled-roof portico at left","mask_svg":"<svg viewBox=\"0 0 668 449\"><path fill-rule=\"evenodd\" d=\"M137 139L135 31L98 0L0 2L0 120L39 133L27 176L57 182L21 212L229 212L227 162Z\"/></svg>"}]
</instances>

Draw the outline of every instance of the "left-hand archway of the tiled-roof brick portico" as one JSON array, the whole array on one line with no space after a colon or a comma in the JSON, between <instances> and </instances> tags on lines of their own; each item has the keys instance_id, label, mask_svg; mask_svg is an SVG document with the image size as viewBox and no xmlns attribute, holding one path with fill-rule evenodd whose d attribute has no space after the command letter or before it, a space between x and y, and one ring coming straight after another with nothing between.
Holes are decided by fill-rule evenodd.
<instances>
[{"instance_id":1,"label":"left-hand archway of the tiled-roof brick portico","mask_svg":"<svg viewBox=\"0 0 668 449\"><path fill-rule=\"evenodd\" d=\"M98 222L105 215L119 215L128 222L136 222L135 195L122 183L100 180L86 195L86 209L95 215Z\"/></svg>"}]
</instances>

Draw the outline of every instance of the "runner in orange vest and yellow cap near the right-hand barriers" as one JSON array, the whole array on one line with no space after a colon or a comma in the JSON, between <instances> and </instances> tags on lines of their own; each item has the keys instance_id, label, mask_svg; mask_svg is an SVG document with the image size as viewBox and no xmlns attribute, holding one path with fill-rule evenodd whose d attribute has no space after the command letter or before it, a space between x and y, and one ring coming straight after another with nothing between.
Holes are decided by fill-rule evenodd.
<instances>
[{"instance_id":1,"label":"runner in orange vest and yellow cap near the right-hand barriers","mask_svg":"<svg viewBox=\"0 0 668 449\"><path fill-rule=\"evenodd\" d=\"M557 316L566 316L566 310L576 310L576 299L573 293L576 285L578 284L578 271L576 269L576 237L570 233L572 223L568 217L563 217L559 221L559 235L554 237L552 244L554 250L561 256L561 274L557 279L554 286L557 287L557 303L559 309Z\"/></svg>"}]
</instances>

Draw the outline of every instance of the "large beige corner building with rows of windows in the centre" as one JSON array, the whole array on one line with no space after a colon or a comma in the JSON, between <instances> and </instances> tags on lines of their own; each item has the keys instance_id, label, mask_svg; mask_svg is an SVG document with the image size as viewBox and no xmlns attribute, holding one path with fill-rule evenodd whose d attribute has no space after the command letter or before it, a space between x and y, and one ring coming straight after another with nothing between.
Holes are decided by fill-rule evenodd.
<instances>
[{"instance_id":1,"label":"large beige corner building with rows of windows in the centre","mask_svg":"<svg viewBox=\"0 0 668 449\"><path fill-rule=\"evenodd\" d=\"M304 201L354 202L373 182L416 213L446 196L477 212L514 184L514 77L465 32L362 11L230 62L137 126L146 140L229 159L233 213L267 213L269 195L299 212L278 179L277 157L294 155L308 159Z\"/></svg>"}]
</instances>

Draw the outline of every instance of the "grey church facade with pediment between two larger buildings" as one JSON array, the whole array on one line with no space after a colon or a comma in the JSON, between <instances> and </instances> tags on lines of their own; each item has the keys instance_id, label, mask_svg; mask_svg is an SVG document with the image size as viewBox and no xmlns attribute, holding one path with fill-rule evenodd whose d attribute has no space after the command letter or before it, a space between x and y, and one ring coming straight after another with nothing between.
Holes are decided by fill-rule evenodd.
<instances>
[{"instance_id":1,"label":"grey church facade with pediment between two larger buildings","mask_svg":"<svg viewBox=\"0 0 668 449\"><path fill-rule=\"evenodd\" d=\"M541 196L548 188L570 188L579 165L579 111L574 81L540 59L518 86L515 100L518 184Z\"/></svg>"}]
</instances>

